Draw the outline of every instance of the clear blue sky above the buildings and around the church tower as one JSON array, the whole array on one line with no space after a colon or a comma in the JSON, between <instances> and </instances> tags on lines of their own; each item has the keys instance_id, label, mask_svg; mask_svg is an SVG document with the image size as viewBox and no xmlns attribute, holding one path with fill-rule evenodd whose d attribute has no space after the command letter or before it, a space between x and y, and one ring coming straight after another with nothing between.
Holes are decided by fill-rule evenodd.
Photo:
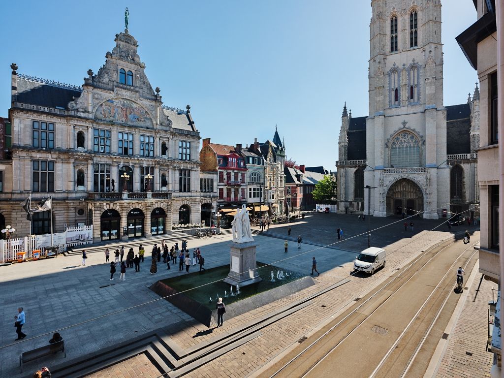
<instances>
[{"instance_id":1,"label":"clear blue sky above the buildings and around the church tower","mask_svg":"<svg viewBox=\"0 0 504 378\"><path fill-rule=\"evenodd\" d=\"M11 69L81 85L124 29L165 105L191 112L202 138L273 139L287 157L335 170L341 111L367 115L369 0L24 1L0 4L0 115ZM476 20L472 0L443 1L445 105L465 103L476 72L455 37Z\"/></svg>"}]
</instances>

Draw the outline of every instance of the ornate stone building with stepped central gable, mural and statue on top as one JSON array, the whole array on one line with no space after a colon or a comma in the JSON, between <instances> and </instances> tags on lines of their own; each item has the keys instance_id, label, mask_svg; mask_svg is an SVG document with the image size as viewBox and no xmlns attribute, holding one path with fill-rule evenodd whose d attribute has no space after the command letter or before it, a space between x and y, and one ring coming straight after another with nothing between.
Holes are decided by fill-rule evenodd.
<instances>
[{"instance_id":1,"label":"ornate stone building with stepped central gable, mural and statue on top","mask_svg":"<svg viewBox=\"0 0 504 378\"><path fill-rule=\"evenodd\" d=\"M82 86L11 66L12 160L1 166L0 212L18 235L30 232L20 206L30 193L32 202L52 196L54 232L92 223L96 240L201 221L200 134L190 107L163 106L127 29L114 41ZM49 212L35 213L32 233L48 233L50 224Z\"/></svg>"}]
</instances>

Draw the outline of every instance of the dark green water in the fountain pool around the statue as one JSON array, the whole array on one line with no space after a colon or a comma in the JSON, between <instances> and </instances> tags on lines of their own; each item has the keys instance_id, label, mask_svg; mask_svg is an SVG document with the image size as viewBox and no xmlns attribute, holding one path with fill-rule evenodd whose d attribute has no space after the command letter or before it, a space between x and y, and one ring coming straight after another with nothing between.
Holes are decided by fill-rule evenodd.
<instances>
[{"instance_id":1,"label":"dark green water in the fountain pool around the statue","mask_svg":"<svg viewBox=\"0 0 504 378\"><path fill-rule=\"evenodd\" d=\"M263 280L255 284L240 287L240 293L233 296L229 295L231 285L222 282L229 274L229 265L207 269L201 273L199 272L199 267L194 267L194 269L198 269L198 271L187 273L184 276L168 278L161 282L172 287L179 293L188 290L183 294L196 300L210 310L214 310L218 299L217 294L222 297L225 304L230 304L306 276L305 274L288 272L272 265L265 266L265 264L259 262L257 263L257 267L259 275ZM279 270L283 270L284 275L288 272L290 276L278 280L276 277L277 271ZM271 282L271 271L273 271L275 282ZM224 296L224 290L227 291L227 297ZM235 286L233 286L233 294L236 294ZM212 297L212 302L210 302L210 297Z\"/></svg>"}]
</instances>

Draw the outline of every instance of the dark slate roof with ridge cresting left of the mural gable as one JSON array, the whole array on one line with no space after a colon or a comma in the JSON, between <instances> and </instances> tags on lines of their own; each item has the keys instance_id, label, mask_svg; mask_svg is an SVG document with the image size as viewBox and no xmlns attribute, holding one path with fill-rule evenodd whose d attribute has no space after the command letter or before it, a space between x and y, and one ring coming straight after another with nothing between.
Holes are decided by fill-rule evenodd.
<instances>
[{"instance_id":1,"label":"dark slate roof with ridge cresting left of the mural gable","mask_svg":"<svg viewBox=\"0 0 504 378\"><path fill-rule=\"evenodd\" d=\"M36 78L28 79L22 75L17 78L16 102L67 109L68 103L73 101L74 97L80 97L81 93L82 89L49 84Z\"/></svg>"}]
</instances>

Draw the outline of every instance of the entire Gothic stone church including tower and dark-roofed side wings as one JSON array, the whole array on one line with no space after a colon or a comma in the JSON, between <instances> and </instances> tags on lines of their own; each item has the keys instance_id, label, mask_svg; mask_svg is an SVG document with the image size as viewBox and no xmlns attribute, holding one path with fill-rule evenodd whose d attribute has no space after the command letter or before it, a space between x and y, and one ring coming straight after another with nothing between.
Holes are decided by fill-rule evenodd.
<instances>
[{"instance_id":1,"label":"entire Gothic stone church including tower and dark-roofed side wings","mask_svg":"<svg viewBox=\"0 0 504 378\"><path fill-rule=\"evenodd\" d=\"M443 104L440 1L372 0L371 8L369 113L343 109L338 211L429 219L474 211L479 92Z\"/></svg>"}]
</instances>

